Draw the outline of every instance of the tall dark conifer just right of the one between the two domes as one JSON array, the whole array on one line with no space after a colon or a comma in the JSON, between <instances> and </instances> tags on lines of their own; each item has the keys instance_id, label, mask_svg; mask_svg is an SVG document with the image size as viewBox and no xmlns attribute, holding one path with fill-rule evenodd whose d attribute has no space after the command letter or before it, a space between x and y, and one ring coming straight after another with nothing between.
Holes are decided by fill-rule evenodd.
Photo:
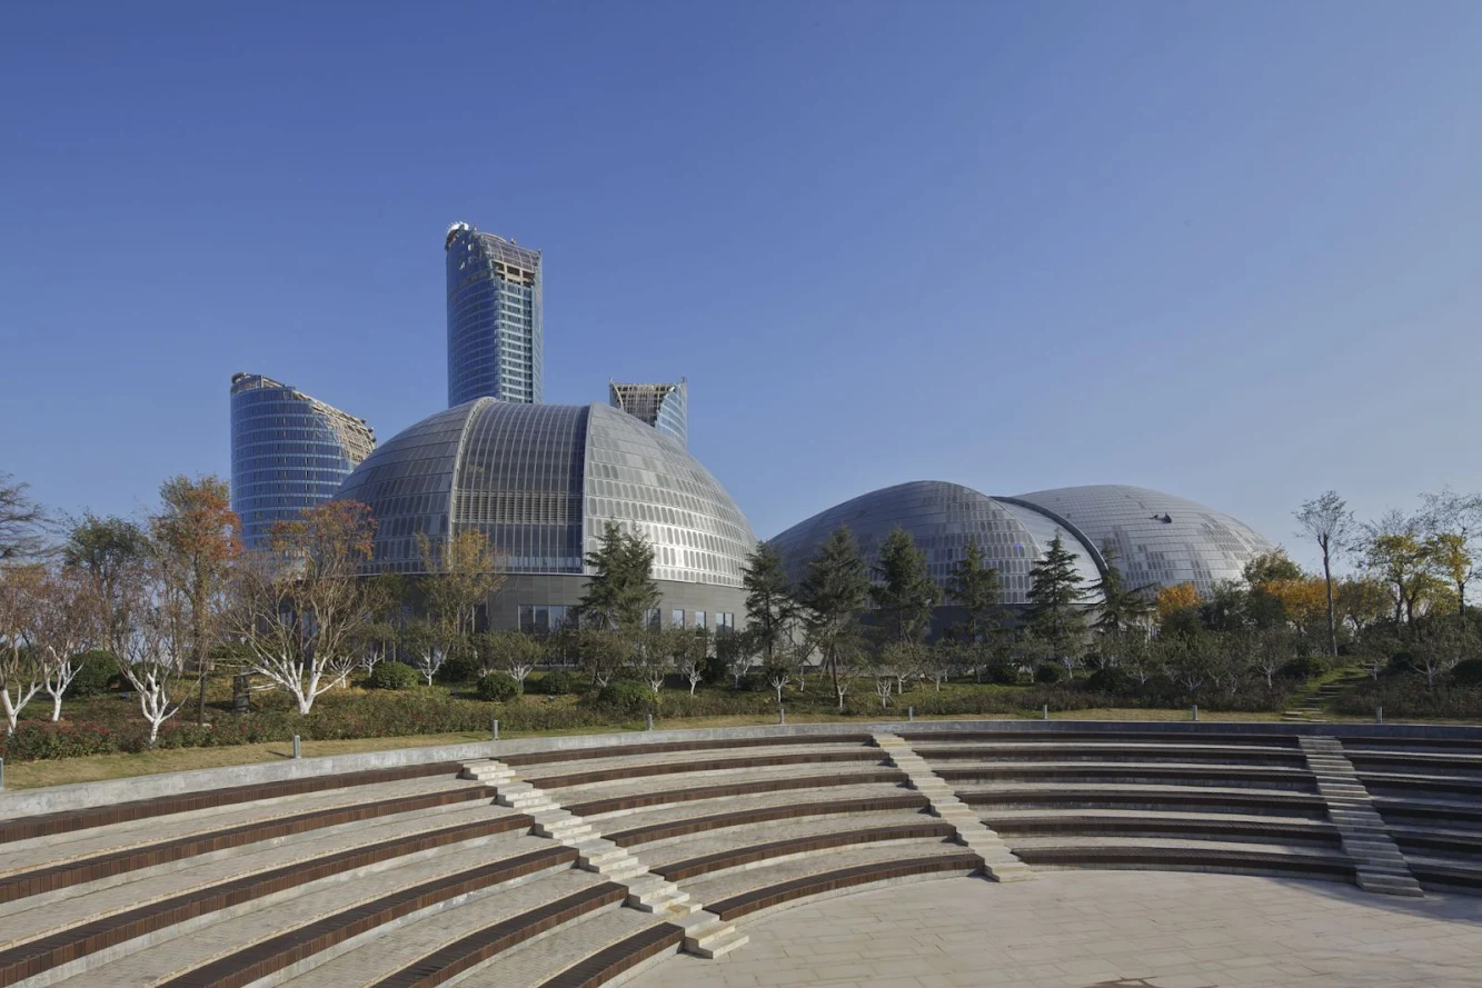
<instances>
[{"instance_id":1,"label":"tall dark conifer just right of the one between the two domes","mask_svg":"<svg viewBox=\"0 0 1482 988\"><path fill-rule=\"evenodd\" d=\"M858 613L870 593L860 547L846 526L839 526L818 554L808 563L808 575L797 588L797 603L805 609L808 640L823 658L843 710L848 671L858 653Z\"/></svg>"}]
</instances>

